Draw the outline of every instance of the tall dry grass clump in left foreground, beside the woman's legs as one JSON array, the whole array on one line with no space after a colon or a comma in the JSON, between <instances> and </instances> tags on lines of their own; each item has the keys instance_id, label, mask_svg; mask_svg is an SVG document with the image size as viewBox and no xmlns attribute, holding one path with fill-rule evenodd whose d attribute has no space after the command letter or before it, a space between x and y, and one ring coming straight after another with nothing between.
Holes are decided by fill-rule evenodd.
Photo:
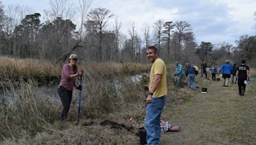
<instances>
[{"instance_id":1,"label":"tall dry grass clump in left foreground, beside the woman's legs","mask_svg":"<svg viewBox=\"0 0 256 145\"><path fill-rule=\"evenodd\" d=\"M10 102L3 99L0 106L0 137L19 138L20 134L35 135L43 130L42 126L56 120L57 107L51 99L43 99L36 91L34 81L20 80L19 85L13 86L14 96ZM4 88L5 89L5 88Z\"/></svg>"}]
</instances>

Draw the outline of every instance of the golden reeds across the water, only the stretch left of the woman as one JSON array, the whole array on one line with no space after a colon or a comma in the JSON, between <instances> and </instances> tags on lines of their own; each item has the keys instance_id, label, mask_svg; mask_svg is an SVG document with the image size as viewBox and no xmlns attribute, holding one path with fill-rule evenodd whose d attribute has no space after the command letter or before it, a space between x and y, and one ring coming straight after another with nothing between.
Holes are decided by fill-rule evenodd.
<instances>
[{"instance_id":1,"label":"golden reeds across the water, only the stretch left of the woman","mask_svg":"<svg viewBox=\"0 0 256 145\"><path fill-rule=\"evenodd\" d=\"M28 80L33 78L42 83L49 83L52 78L58 78L61 74L61 67L47 61L37 59L16 59L11 57L0 57L0 79L10 79L15 82L19 78Z\"/></svg>"}]
</instances>

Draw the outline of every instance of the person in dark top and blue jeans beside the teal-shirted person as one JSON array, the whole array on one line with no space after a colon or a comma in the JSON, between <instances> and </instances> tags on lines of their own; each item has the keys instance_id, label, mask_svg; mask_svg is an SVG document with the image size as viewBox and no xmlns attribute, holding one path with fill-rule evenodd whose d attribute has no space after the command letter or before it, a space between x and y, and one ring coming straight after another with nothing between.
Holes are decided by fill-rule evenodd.
<instances>
[{"instance_id":1,"label":"person in dark top and blue jeans beside the teal-shirted person","mask_svg":"<svg viewBox=\"0 0 256 145\"><path fill-rule=\"evenodd\" d=\"M186 64L186 76L188 77L188 89L190 90L191 85L193 86L193 90L196 90L195 86L195 67L192 67L189 63Z\"/></svg>"}]
</instances>

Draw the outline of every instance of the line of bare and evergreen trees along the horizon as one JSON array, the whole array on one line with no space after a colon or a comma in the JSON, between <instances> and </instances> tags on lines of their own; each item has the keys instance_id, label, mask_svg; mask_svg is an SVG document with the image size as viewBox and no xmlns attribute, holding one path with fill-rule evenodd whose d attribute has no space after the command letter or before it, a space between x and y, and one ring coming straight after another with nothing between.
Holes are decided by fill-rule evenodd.
<instances>
[{"instance_id":1,"label":"line of bare and evergreen trees along the horizon","mask_svg":"<svg viewBox=\"0 0 256 145\"><path fill-rule=\"evenodd\" d=\"M43 16L23 6L4 6L0 1L0 54L63 62L70 53L78 53L88 62L143 63L147 62L145 48L154 45L166 62L256 60L256 36L241 36L237 46L225 42L198 45L186 20L156 20L152 27L142 29L132 24L123 34L116 14L106 8L89 10L91 0L77 2L78 18L67 0L50 0L51 10L45 10Z\"/></svg>"}]
</instances>

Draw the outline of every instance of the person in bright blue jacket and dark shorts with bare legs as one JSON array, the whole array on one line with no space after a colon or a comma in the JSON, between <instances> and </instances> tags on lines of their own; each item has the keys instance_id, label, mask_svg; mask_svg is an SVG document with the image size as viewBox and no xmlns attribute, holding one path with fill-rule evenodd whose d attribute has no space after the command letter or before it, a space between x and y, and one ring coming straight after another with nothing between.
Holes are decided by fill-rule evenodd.
<instances>
[{"instance_id":1,"label":"person in bright blue jacket and dark shorts with bare legs","mask_svg":"<svg viewBox=\"0 0 256 145\"><path fill-rule=\"evenodd\" d=\"M226 60L226 62L221 65L220 72L222 72L222 78L224 79L223 86L228 86L228 78L230 78L232 69L233 69L233 66L229 64L229 60Z\"/></svg>"}]
</instances>

